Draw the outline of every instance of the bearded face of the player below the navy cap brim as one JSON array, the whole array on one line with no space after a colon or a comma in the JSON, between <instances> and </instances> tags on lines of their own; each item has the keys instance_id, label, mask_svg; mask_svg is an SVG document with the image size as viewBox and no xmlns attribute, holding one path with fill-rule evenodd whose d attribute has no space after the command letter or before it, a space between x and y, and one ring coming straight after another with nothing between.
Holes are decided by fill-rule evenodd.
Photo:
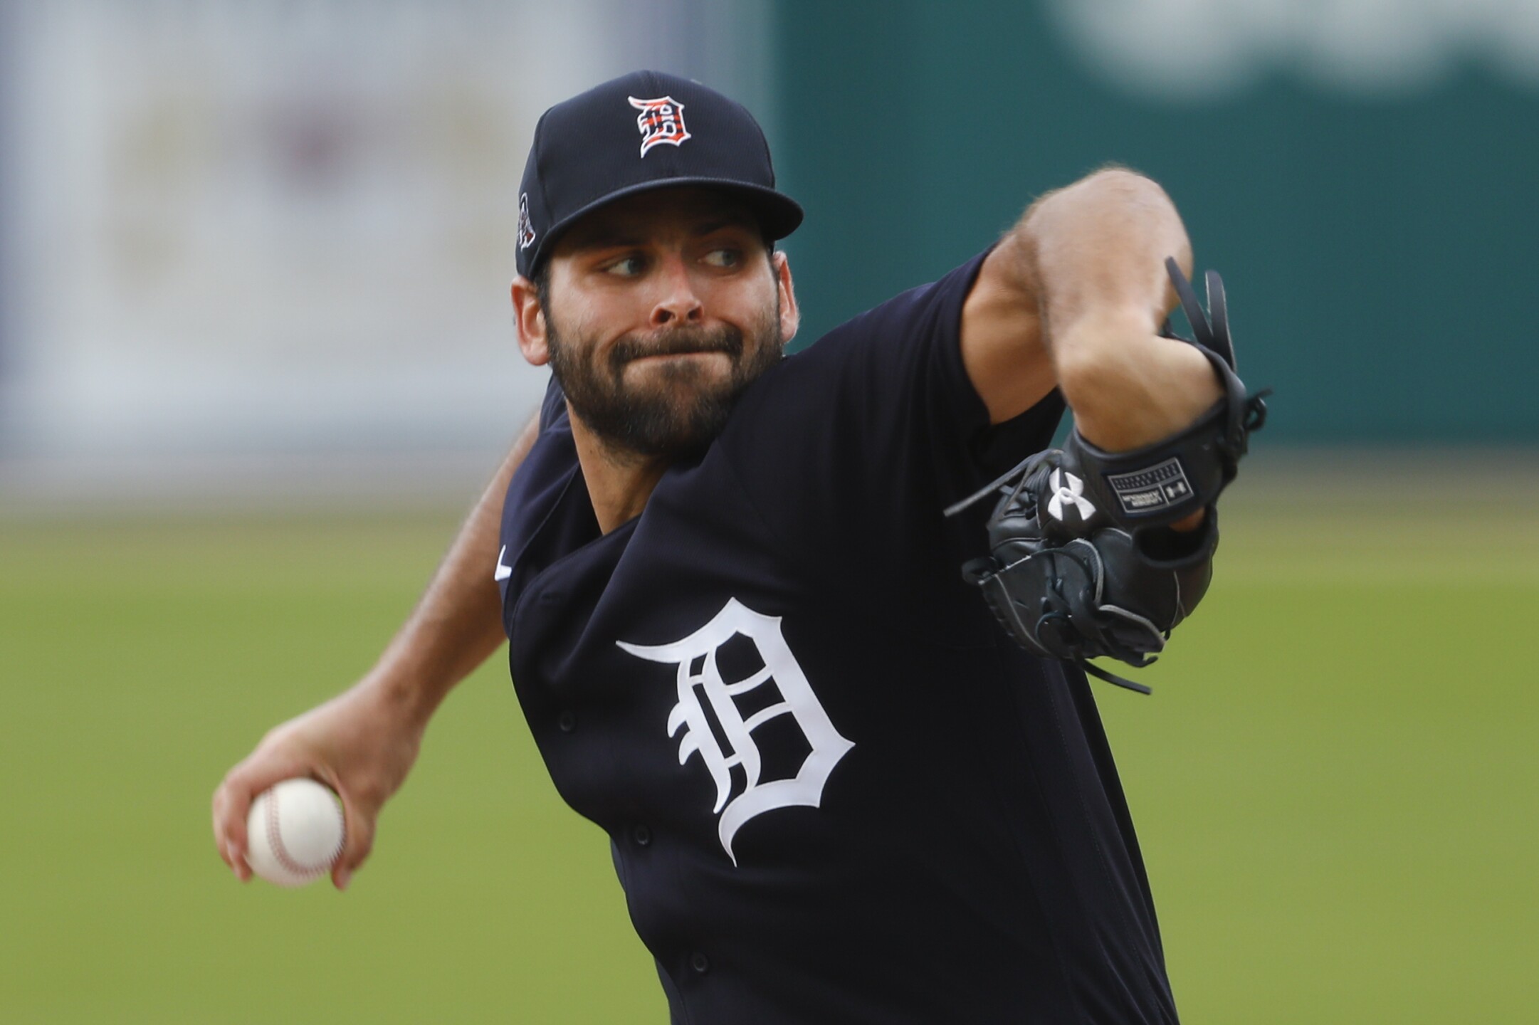
<instances>
[{"instance_id":1,"label":"bearded face of the player below the navy cap brim","mask_svg":"<svg viewBox=\"0 0 1539 1025\"><path fill-rule=\"evenodd\" d=\"M648 459L705 448L796 329L782 271L748 209L717 192L642 192L582 219L556 245L540 297L551 371L576 417Z\"/></svg>"}]
</instances>

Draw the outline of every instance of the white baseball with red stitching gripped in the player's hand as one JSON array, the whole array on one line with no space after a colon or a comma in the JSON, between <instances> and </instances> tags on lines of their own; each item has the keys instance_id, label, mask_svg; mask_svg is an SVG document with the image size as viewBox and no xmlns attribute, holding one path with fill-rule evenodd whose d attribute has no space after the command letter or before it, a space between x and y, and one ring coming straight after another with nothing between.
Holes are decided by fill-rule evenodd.
<instances>
[{"instance_id":1,"label":"white baseball with red stitching gripped in the player's hand","mask_svg":"<svg viewBox=\"0 0 1539 1025\"><path fill-rule=\"evenodd\" d=\"M342 854L342 803L312 779L286 779L251 802L246 863L279 886L303 886Z\"/></svg>"}]
</instances>

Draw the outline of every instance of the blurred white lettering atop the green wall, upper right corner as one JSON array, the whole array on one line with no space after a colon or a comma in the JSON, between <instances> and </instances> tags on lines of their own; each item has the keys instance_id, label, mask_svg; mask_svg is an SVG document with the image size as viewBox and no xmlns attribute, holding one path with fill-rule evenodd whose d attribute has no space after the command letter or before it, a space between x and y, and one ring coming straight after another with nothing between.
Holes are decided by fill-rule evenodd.
<instances>
[{"instance_id":1,"label":"blurred white lettering atop the green wall, upper right corner","mask_svg":"<svg viewBox=\"0 0 1539 1025\"><path fill-rule=\"evenodd\" d=\"M1539 0L1048 0L1107 78L1200 100L1274 71L1362 97L1434 86L1459 62L1539 88Z\"/></svg>"}]
</instances>

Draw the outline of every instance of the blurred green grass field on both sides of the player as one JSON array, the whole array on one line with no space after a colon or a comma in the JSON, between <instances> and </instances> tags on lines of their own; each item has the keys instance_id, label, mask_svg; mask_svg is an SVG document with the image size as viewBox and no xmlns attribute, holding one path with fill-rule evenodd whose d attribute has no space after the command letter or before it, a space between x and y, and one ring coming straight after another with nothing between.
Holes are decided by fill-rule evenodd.
<instances>
[{"instance_id":1,"label":"blurred green grass field on both sides of the player","mask_svg":"<svg viewBox=\"0 0 1539 1025\"><path fill-rule=\"evenodd\" d=\"M1260 477L1154 697L1097 685L1183 1020L1534 1020L1539 477ZM456 516L0 520L0 1020L666 1020L500 660L349 893L214 854L220 776L368 666Z\"/></svg>"}]
</instances>

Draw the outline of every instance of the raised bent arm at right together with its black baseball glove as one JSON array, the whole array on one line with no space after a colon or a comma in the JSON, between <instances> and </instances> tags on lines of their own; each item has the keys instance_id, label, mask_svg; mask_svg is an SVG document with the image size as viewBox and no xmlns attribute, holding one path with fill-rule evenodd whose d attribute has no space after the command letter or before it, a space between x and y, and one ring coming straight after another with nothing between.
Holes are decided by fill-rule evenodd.
<instances>
[{"instance_id":1,"label":"raised bent arm at right together with its black baseball glove","mask_svg":"<svg viewBox=\"0 0 1539 1025\"><path fill-rule=\"evenodd\" d=\"M1088 659L1148 665L1202 600L1214 503L1267 419L1234 376L1222 285L1210 277L1203 311L1190 269L1165 191L1097 171L1031 205L962 312L962 363L994 423L1054 386L1074 412L1062 449L950 509L1017 480L990 517L991 554L963 576L1025 648L1142 691ZM1200 346L1159 336L1177 302Z\"/></svg>"}]
</instances>

